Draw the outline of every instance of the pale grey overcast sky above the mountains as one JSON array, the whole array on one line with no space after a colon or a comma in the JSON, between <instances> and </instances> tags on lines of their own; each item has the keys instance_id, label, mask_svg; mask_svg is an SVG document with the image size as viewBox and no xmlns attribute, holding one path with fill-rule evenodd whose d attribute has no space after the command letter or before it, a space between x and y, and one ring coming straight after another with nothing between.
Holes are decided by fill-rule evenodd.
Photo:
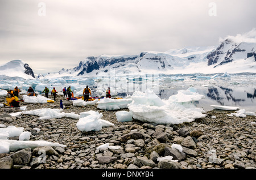
<instances>
[{"instance_id":1,"label":"pale grey overcast sky above the mountains","mask_svg":"<svg viewBox=\"0 0 256 180\"><path fill-rule=\"evenodd\" d=\"M46 74L88 56L217 46L256 27L255 7L255 0L0 0L0 65L21 59Z\"/></svg>"}]
</instances>

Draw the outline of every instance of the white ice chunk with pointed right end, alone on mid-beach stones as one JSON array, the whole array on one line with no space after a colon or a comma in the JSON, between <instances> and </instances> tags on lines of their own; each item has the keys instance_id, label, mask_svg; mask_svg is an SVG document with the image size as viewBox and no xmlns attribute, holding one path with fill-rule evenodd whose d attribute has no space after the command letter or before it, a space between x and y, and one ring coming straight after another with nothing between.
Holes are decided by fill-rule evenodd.
<instances>
[{"instance_id":1,"label":"white ice chunk with pointed right end, alone on mid-beach stones","mask_svg":"<svg viewBox=\"0 0 256 180\"><path fill-rule=\"evenodd\" d=\"M114 124L104 119L101 119L102 113L90 111L80 113L79 121L76 123L77 128L80 131L100 131L102 127L113 127Z\"/></svg>"}]
</instances>

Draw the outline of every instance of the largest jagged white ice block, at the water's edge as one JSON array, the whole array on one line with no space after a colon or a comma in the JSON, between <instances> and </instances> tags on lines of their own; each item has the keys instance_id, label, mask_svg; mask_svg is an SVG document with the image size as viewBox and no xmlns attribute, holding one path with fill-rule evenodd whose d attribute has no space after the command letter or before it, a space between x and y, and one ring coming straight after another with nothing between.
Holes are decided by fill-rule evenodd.
<instances>
[{"instance_id":1,"label":"largest jagged white ice block, at the water's edge","mask_svg":"<svg viewBox=\"0 0 256 180\"><path fill-rule=\"evenodd\" d=\"M136 91L131 96L133 100L128 108L134 119L143 122L157 124L179 124L192 122L197 118L206 115L202 108L196 108L194 101L204 98L196 92L195 88L188 88L187 91L178 91L177 95L171 96L168 100L161 100L150 89L146 92Z\"/></svg>"}]
</instances>

